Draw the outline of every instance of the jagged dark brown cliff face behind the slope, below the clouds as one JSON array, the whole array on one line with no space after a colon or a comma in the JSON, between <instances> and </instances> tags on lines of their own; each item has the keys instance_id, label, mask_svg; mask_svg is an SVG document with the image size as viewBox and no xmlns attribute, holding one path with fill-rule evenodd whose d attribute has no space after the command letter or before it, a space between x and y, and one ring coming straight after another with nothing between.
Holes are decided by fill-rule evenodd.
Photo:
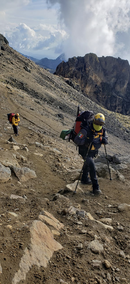
<instances>
[{"instance_id":1,"label":"jagged dark brown cliff face behind the slope, below the clouds","mask_svg":"<svg viewBox=\"0 0 130 284\"><path fill-rule=\"evenodd\" d=\"M89 53L61 62L55 74L74 79L85 96L108 110L130 113L130 65L127 60Z\"/></svg>"}]
</instances>

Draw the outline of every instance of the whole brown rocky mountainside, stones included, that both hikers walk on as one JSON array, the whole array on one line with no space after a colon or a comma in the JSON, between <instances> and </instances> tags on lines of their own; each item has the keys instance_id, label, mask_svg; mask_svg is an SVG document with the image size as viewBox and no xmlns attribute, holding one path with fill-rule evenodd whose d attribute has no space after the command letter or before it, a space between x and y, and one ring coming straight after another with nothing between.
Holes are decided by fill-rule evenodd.
<instances>
[{"instance_id":1,"label":"whole brown rocky mountainside, stones included, that both hikers walk on","mask_svg":"<svg viewBox=\"0 0 130 284\"><path fill-rule=\"evenodd\" d=\"M101 196L79 181L83 160L59 138L80 110L102 112L109 143L95 159ZM0 282L130 282L129 116L85 97L0 35ZM19 136L7 113L20 114Z\"/></svg>"}]
</instances>

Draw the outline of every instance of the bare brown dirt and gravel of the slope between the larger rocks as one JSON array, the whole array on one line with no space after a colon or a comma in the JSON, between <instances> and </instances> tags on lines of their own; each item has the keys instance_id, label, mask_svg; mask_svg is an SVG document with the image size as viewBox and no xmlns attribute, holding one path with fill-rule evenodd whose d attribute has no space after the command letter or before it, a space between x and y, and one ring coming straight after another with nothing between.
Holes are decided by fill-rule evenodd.
<instances>
[{"instance_id":1,"label":"bare brown dirt and gravel of the slope between the larger rocks","mask_svg":"<svg viewBox=\"0 0 130 284\"><path fill-rule=\"evenodd\" d=\"M125 251L130 243L130 211L122 213L117 207L122 203L130 204L130 167L121 171L125 177L124 183L117 180L115 176L112 181L109 177L99 179L101 196L93 196L89 185L82 185L84 191L82 193L73 194L61 191L70 199L73 206L80 204L81 209L90 212L94 219L112 218L113 231L105 231L91 220L82 219L82 225L77 225L74 223L74 217L64 215L62 212L69 206L67 201L52 201L55 193L75 181L83 164L75 144L59 138L61 130L69 129L75 121L78 95L82 110L84 104L85 108L93 106L96 109L95 112L100 110L100 106L95 103L93 105L90 100L88 106L86 98L84 99L81 94L65 84L62 78L55 77L38 66L35 69L33 62L17 55L16 51L9 47L3 51L0 60L0 147L4 149L0 151L0 158L5 155L8 159L9 153L13 155L16 152L10 144L7 144L10 136L14 136L13 129L7 128L9 125L7 113L18 112L21 122L20 135L16 139L19 144L26 144L29 149L29 152L26 152L21 147L18 152L27 158L24 166L35 170L37 175L33 180L20 185L13 174L8 182L1 184L1 284L11 283L14 273L19 268L24 249L29 246L29 232L23 228L23 222L35 219L43 208L52 213L65 226L60 236L55 237L55 240L63 245L63 249L53 254L46 268L38 269L33 266L26 280L19 282L20 284L57 284L60 283L60 279L68 284L72 282L77 284L115 283L118 280L120 283L128 284L130 282L129 259L121 258L119 252ZM31 73L23 69L24 65L28 65ZM106 115L107 111L104 111ZM64 120L59 118L58 114L63 114ZM120 122L119 115L115 117L115 114L108 112L109 115L112 120L110 121L111 118L109 118L107 121L109 135L107 153L130 155L129 140L123 139L123 128L127 127L124 122L128 121L128 117L120 116ZM114 117L115 121L113 121ZM119 124L122 123L120 127L122 135L113 136L112 129L109 128L109 121L115 125L117 121ZM43 147L33 144L36 141L42 143ZM41 153L43 156L38 157L34 155L34 152ZM105 151L102 147L99 154L103 153L105 154ZM20 165L23 166L23 163ZM20 196L24 194L27 199L25 202L10 200L11 194ZM88 202L82 202L83 199L87 199ZM16 212L18 217L10 216L9 211ZM11 225L13 230L9 230L7 225ZM123 226L124 230L119 231L118 225ZM86 234L80 234L83 229L87 230ZM98 236L100 243L104 246L104 252L99 255L86 248L87 243L94 240L94 235ZM106 237L109 237L110 241L106 241ZM82 243L82 250L75 249L78 243ZM130 255L129 250L130 248L125 251L125 255ZM96 269L92 266L92 260L95 259L101 260L102 263L107 259L112 267L106 269L102 264L100 269ZM111 275L111 281L107 279L107 273Z\"/></svg>"}]
</instances>

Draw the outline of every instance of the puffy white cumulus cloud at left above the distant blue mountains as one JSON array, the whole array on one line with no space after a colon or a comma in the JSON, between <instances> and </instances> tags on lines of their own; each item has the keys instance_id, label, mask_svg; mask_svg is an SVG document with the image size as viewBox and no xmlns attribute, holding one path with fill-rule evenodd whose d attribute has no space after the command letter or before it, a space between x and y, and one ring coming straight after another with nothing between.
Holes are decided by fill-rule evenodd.
<instances>
[{"instance_id":1,"label":"puffy white cumulus cloud at left above the distant blue mountains","mask_svg":"<svg viewBox=\"0 0 130 284\"><path fill-rule=\"evenodd\" d=\"M47 25L40 25L35 28L35 30L28 27L26 24L19 24L13 32L8 34L8 40L13 47L15 43L15 48L19 51L21 50L54 50L55 46L61 43L63 37L66 37L66 32L55 29L52 27L52 32ZM43 32L43 35L37 32ZM21 51L22 53L22 51Z\"/></svg>"}]
</instances>

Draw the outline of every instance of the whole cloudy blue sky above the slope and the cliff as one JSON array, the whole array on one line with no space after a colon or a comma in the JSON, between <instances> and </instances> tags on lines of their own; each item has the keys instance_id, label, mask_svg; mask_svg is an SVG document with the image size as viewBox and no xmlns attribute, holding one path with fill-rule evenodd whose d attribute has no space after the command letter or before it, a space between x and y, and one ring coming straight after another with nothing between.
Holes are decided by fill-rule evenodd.
<instances>
[{"instance_id":1,"label":"whole cloudy blue sky above the slope and the cliff","mask_svg":"<svg viewBox=\"0 0 130 284\"><path fill-rule=\"evenodd\" d=\"M0 33L11 47L39 59L93 52L130 63L130 1L4 0Z\"/></svg>"}]
</instances>

